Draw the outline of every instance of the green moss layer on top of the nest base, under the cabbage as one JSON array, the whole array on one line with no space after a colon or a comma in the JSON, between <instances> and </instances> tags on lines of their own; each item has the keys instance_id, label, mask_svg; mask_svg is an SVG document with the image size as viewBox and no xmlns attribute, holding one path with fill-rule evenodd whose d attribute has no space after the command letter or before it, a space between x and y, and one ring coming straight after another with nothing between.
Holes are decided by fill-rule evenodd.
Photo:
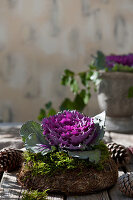
<instances>
[{"instance_id":1,"label":"green moss layer on top of the nest base, under the cabbage","mask_svg":"<svg viewBox=\"0 0 133 200\"><path fill-rule=\"evenodd\" d=\"M106 145L101 142L99 145L95 145L93 149L99 149L101 151L101 159L98 164L89 162L87 160L81 160L68 156L67 152L55 151L42 156L41 153L33 154L25 152L24 157L26 160L25 169L32 171L32 175L53 175L56 172L64 170L71 170L80 168L81 171L84 166L93 167L97 170L104 168L103 163L109 158L109 152Z\"/></svg>"}]
</instances>

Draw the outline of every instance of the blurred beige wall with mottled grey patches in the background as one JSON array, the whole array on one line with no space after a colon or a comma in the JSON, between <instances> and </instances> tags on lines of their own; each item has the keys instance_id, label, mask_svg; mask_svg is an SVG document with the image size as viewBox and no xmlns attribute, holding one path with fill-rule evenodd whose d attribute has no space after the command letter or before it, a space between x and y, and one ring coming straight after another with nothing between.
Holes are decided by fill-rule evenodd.
<instances>
[{"instance_id":1,"label":"blurred beige wall with mottled grey patches in the background","mask_svg":"<svg viewBox=\"0 0 133 200\"><path fill-rule=\"evenodd\" d=\"M0 115L35 120L69 89L65 68L81 71L97 50L133 51L133 0L0 0ZM96 94L85 111L99 112Z\"/></svg>"}]
</instances>

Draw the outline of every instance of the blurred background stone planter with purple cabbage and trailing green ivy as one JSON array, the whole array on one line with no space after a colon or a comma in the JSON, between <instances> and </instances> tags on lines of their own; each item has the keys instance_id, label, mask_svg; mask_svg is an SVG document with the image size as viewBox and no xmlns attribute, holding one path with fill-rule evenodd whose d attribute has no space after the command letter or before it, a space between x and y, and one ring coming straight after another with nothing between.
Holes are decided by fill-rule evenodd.
<instances>
[{"instance_id":1,"label":"blurred background stone planter with purple cabbage and trailing green ivy","mask_svg":"<svg viewBox=\"0 0 133 200\"><path fill-rule=\"evenodd\" d=\"M100 109L107 114L106 130L133 131L133 54L106 56L98 51L86 71L64 70L61 84L69 86L75 97L73 100L65 98L59 110L83 111L94 86ZM45 107L49 110L48 115L56 113L51 102ZM45 109L41 109L39 119L45 116Z\"/></svg>"}]
</instances>

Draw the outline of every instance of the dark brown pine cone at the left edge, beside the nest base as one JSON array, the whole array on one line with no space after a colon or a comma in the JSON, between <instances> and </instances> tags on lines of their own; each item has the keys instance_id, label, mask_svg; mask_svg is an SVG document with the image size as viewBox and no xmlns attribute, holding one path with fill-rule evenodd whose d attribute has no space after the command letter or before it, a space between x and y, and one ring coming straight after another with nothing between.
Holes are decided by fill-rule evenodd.
<instances>
[{"instance_id":1,"label":"dark brown pine cone at the left edge, beside the nest base","mask_svg":"<svg viewBox=\"0 0 133 200\"><path fill-rule=\"evenodd\" d=\"M0 151L0 171L11 172L22 165L23 151L17 149L4 149Z\"/></svg>"}]
</instances>

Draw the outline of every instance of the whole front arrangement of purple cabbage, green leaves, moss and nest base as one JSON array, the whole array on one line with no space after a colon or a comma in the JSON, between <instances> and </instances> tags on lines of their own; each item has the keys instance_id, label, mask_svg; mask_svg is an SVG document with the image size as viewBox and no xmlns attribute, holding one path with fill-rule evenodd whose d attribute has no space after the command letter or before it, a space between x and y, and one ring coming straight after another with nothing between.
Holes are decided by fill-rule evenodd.
<instances>
[{"instance_id":1,"label":"whole front arrangement of purple cabbage, green leaves, moss and nest base","mask_svg":"<svg viewBox=\"0 0 133 200\"><path fill-rule=\"evenodd\" d=\"M20 130L25 162L18 181L27 189L70 194L114 185L118 168L102 142L105 112L88 117L72 110L26 122Z\"/></svg>"}]
</instances>

